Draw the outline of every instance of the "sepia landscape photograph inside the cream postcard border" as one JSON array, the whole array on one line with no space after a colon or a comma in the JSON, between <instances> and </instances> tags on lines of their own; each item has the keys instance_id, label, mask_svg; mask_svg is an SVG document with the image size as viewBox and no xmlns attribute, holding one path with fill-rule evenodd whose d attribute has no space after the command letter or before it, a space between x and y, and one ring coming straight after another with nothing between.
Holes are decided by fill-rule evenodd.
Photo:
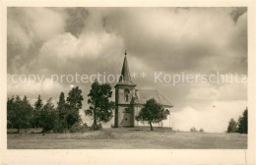
<instances>
[{"instance_id":1,"label":"sepia landscape photograph inside the cream postcard border","mask_svg":"<svg viewBox=\"0 0 256 165\"><path fill-rule=\"evenodd\" d=\"M7 149L247 149L247 7L8 7Z\"/></svg>"}]
</instances>

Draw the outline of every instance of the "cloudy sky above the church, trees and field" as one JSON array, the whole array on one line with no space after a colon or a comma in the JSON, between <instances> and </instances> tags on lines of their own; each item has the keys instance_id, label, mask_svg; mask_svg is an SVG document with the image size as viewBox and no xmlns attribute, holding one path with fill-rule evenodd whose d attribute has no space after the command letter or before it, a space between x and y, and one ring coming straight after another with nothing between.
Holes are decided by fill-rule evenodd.
<instances>
[{"instance_id":1,"label":"cloudy sky above the church, trees and field","mask_svg":"<svg viewBox=\"0 0 256 165\"><path fill-rule=\"evenodd\" d=\"M175 130L223 133L247 105L246 8L9 7L7 17L9 97L56 102L79 85L84 115L92 83L52 83L52 75L119 75L126 49L137 88L157 88L173 104ZM173 83L174 75L218 73L239 81Z\"/></svg>"}]
</instances>

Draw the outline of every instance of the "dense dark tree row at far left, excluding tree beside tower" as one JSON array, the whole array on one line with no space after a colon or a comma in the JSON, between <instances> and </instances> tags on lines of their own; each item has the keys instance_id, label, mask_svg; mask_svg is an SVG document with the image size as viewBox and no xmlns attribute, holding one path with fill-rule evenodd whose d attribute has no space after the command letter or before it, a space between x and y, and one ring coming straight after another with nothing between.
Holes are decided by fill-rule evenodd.
<instances>
[{"instance_id":1,"label":"dense dark tree row at far left, excluding tree beside tower","mask_svg":"<svg viewBox=\"0 0 256 165\"><path fill-rule=\"evenodd\" d=\"M61 92L57 107L54 107L52 98L43 104L40 95L33 106L25 95L23 99L19 95L8 98L7 120L8 128L21 129L42 128L43 133L50 131L63 132L69 130L75 123L80 122L79 110L82 108L82 91L79 87L72 88L65 100Z\"/></svg>"}]
</instances>

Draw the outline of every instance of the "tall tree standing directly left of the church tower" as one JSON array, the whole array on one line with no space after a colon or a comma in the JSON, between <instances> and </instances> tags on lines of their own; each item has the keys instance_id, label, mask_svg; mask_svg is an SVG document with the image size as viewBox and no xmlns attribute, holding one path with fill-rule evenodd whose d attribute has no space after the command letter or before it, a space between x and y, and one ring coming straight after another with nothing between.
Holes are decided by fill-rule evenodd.
<instances>
[{"instance_id":1,"label":"tall tree standing directly left of the church tower","mask_svg":"<svg viewBox=\"0 0 256 165\"><path fill-rule=\"evenodd\" d=\"M111 86L108 83L99 84L97 81L92 84L90 93L88 94L89 109L85 110L94 120L94 130L97 130L96 122L108 122L112 117L114 102L110 101L112 96Z\"/></svg>"}]
</instances>

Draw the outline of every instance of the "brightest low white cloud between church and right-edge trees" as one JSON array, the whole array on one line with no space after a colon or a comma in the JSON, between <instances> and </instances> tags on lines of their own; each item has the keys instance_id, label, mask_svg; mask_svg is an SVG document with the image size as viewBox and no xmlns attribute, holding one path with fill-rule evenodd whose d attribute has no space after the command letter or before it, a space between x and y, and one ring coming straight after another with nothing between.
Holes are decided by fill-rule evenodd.
<instances>
[{"instance_id":1,"label":"brightest low white cloud between church and right-edge trees","mask_svg":"<svg viewBox=\"0 0 256 165\"><path fill-rule=\"evenodd\" d=\"M185 107L182 111L173 113L173 129L189 131L192 127L205 132L224 133L228 121L233 118L237 121L247 105L246 101L217 101L212 102L203 111Z\"/></svg>"}]
</instances>

